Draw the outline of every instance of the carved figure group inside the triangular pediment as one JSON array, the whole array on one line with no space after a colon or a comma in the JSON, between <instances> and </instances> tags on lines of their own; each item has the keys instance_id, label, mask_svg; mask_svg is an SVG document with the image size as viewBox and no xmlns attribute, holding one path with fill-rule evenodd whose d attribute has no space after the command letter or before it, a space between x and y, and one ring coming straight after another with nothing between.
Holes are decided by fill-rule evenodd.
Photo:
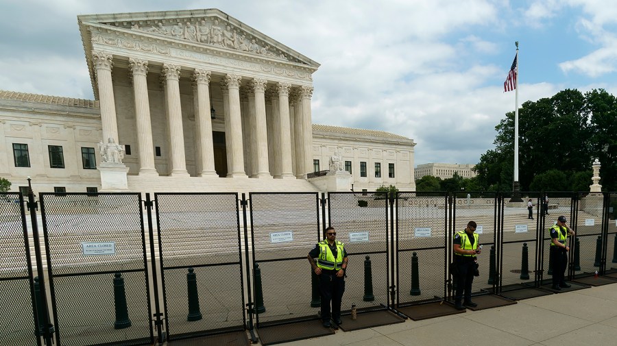
<instances>
[{"instance_id":1,"label":"carved figure group inside the triangular pediment","mask_svg":"<svg viewBox=\"0 0 617 346\"><path fill-rule=\"evenodd\" d=\"M219 22L218 17L206 17L202 18L201 21L197 19L194 23L184 22L174 25L165 25L160 21L149 27L133 24L131 29L149 34L169 36L179 40L197 42L203 45L236 49L271 58L299 62L296 59L290 58L289 55L282 51L270 47L258 38L247 34L242 29L233 27L230 23Z\"/></svg>"}]
</instances>

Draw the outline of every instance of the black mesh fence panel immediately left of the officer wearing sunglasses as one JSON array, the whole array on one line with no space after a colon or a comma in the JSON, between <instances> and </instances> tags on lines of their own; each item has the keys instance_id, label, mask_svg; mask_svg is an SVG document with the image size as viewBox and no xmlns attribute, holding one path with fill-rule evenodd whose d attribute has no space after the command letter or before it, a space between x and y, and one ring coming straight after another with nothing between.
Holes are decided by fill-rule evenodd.
<instances>
[{"instance_id":1,"label":"black mesh fence panel immediately left of the officer wearing sunglasses","mask_svg":"<svg viewBox=\"0 0 617 346\"><path fill-rule=\"evenodd\" d=\"M250 193L249 198L257 327L317 319L319 306L311 307L312 271L306 256L322 234L319 196ZM255 280L260 274L261 285Z\"/></svg>"}]
</instances>

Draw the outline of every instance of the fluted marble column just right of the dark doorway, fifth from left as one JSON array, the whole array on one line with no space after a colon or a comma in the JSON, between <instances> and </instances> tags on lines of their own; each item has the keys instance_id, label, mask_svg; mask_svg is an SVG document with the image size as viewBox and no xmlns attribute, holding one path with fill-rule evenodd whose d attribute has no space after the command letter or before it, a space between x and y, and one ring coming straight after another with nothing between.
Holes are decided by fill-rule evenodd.
<instances>
[{"instance_id":1,"label":"fluted marble column just right of the dark doorway, fifth from left","mask_svg":"<svg viewBox=\"0 0 617 346\"><path fill-rule=\"evenodd\" d=\"M230 131L230 141L227 143L227 160L229 161L231 159L232 162L231 169L227 173L228 177L247 177L244 172L244 153L242 150L242 119L240 114L241 80L242 77L239 75L228 74L225 76L225 81L229 92L229 116L225 119L225 129L226 132L228 131L228 128Z\"/></svg>"}]
</instances>

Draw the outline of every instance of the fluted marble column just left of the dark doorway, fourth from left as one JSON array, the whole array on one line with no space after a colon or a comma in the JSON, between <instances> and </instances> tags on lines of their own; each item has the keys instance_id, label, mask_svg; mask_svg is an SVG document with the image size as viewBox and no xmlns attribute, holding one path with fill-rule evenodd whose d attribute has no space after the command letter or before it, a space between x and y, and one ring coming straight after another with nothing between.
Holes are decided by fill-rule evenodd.
<instances>
[{"instance_id":1,"label":"fluted marble column just left of the dark doorway, fourth from left","mask_svg":"<svg viewBox=\"0 0 617 346\"><path fill-rule=\"evenodd\" d=\"M210 118L210 71L196 69L193 78L197 82L197 109L195 123L199 129L197 152L200 166L197 175L200 177L218 177L214 166L214 147L212 141L212 119Z\"/></svg>"}]
</instances>

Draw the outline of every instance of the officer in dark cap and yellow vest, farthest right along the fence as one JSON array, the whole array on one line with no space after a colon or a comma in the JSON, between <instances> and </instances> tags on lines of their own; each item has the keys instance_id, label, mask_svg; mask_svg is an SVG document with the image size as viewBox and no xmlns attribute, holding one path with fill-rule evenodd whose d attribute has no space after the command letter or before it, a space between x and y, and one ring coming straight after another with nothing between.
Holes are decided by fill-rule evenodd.
<instances>
[{"instance_id":1,"label":"officer in dark cap and yellow vest, farthest right along the fence","mask_svg":"<svg viewBox=\"0 0 617 346\"><path fill-rule=\"evenodd\" d=\"M564 272L568 266L568 234L574 236L574 231L570 226L566 225L566 217L561 215L557 218L557 224L551 227L551 268L553 268L553 289L560 291L561 288L568 288L568 284L564 277Z\"/></svg>"}]
</instances>

